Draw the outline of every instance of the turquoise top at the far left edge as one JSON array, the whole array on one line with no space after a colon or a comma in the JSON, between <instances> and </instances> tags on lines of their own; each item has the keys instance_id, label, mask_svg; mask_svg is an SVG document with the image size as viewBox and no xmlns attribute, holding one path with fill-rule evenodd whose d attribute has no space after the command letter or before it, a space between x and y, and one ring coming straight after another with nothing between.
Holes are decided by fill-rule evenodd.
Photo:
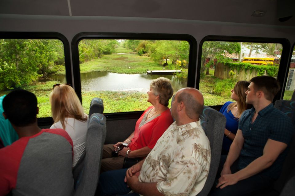
<instances>
[{"instance_id":1,"label":"turquoise top at the far left edge","mask_svg":"<svg viewBox=\"0 0 295 196\"><path fill-rule=\"evenodd\" d=\"M0 97L0 139L2 140L4 146L7 146L18 140L18 134L15 132L9 120L4 119L4 116L2 115L4 112L2 101L5 96L6 95Z\"/></svg>"}]
</instances>

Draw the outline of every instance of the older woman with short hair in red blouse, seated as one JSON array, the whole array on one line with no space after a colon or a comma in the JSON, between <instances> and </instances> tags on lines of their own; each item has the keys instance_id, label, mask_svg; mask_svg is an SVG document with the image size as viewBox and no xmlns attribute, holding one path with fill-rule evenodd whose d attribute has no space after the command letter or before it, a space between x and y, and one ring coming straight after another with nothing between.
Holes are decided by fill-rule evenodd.
<instances>
[{"instance_id":1,"label":"older woman with short hair in red blouse, seated","mask_svg":"<svg viewBox=\"0 0 295 196\"><path fill-rule=\"evenodd\" d=\"M159 77L151 82L148 102L152 106L137 120L134 132L124 141L129 143L129 146L119 151L119 156L112 157L112 151L122 142L104 145L100 172L122 169L125 156L143 158L151 152L164 131L173 123L167 107L172 95L173 88L169 79Z\"/></svg>"}]
</instances>

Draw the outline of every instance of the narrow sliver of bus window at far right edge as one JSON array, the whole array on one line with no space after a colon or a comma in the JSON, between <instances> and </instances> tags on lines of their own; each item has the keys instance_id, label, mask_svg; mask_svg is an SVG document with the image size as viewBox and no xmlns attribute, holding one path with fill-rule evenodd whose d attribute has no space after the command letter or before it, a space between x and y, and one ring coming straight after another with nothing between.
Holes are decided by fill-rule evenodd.
<instances>
[{"instance_id":1,"label":"narrow sliver of bus window at far right edge","mask_svg":"<svg viewBox=\"0 0 295 196\"><path fill-rule=\"evenodd\" d=\"M288 73L286 88L284 92L284 100L291 100L294 90L295 90L295 46L293 47L293 52L291 56L289 73Z\"/></svg>"}]
</instances>

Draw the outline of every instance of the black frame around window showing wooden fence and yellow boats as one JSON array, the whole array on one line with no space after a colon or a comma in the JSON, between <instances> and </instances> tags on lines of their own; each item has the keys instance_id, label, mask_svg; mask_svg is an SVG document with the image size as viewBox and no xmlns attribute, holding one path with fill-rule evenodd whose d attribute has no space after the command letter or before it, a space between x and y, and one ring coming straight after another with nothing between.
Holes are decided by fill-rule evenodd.
<instances>
[{"instance_id":1,"label":"black frame around window showing wooden fence and yellow boats","mask_svg":"<svg viewBox=\"0 0 295 196\"><path fill-rule=\"evenodd\" d=\"M291 49L291 44L289 40L285 38L265 38L265 37L242 37L242 36L214 36L209 35L205 36L199 43L198 51L198 66L197 66L197 75L196 75L196 89L199 89L199 82L201 76L201 61L202 61L202 47L205 41L228 41L228 42L253 42L253 43L279 43L282 44L283 51L281 54L281 60L279 65L279 70L277 74L277 80L281 85L280 91L274 97L275 100L282 99L285 91L286 79L289 72L290 60L289 53ZM220 109L221 105L210 106L214 109Z\"/></svg>"}]
</instances>

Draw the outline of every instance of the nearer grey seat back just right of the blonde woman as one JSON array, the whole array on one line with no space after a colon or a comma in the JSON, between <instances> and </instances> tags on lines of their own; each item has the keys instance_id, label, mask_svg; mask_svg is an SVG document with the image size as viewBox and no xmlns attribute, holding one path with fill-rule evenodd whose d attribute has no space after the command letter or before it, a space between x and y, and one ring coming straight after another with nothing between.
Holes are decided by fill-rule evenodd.
<instances>
[{"instance_id":1,"label":"nearer grey seat back just right of the blonde woman","mask_svg":"<svg viewBox=\"0 0 295 196\"><path fill-rule=\"evenodd\" d=\"M92 114L88 122L84 165L75 181L75 196L95 194L105 136L105 116L98 113Z\"/></svg>"}]
</instances>

